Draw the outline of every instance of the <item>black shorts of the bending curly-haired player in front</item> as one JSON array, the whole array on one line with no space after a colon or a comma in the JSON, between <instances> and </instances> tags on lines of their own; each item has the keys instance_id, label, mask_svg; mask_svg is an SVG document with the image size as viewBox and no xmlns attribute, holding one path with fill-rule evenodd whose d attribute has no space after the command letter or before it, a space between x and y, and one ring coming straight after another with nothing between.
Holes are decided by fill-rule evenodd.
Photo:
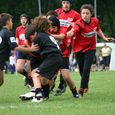
<instances>
[{"instance_id":1,"label":"black shorts of the bending curly-haired player in front","mask_svg":"<svg viewBox=\"0 0 115 115\"><path fill-rule=\"evenodd\" d=\"M62 56L60 54L50 54L43 60L36 72L51 80L60 69L61 64Z\"/></svg>"}]
</instances>

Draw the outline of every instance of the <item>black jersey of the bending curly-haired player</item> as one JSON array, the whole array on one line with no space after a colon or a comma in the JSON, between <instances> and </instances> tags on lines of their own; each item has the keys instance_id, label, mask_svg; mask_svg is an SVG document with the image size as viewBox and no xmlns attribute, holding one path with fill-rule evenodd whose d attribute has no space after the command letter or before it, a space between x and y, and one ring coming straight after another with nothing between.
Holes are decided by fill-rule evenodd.
<instances>
[{"instance_id":1,"label":"black jersey of the bending curly-haired player","mask_svg":"<svg viewBox=\"0 0 115 115\"><path fill-rule=\"evenodd\" d=\"M56 40L48 33L38 33L33 43L38 44L38 46L40 46L40 49L37 51L37 54L40 54L43 57L51 53L58 53L61 55L61 50Z\"/></svg>"}]
</instances>

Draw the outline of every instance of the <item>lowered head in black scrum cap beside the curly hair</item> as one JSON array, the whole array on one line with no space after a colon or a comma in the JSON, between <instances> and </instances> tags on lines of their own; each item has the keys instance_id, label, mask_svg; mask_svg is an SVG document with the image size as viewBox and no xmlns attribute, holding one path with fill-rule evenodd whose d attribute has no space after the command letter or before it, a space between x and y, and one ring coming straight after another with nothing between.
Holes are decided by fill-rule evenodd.
<instances>
[{"instance_id":1,"label":"lowered head in black scrum cap beside the curly hair","mask_svg":"<svg viewBox=\"0 0 115 115\"><path fill-rule=\"evenodd\" d=\"M55 16L50 16L49 21L51 24L50 31L52 34L56 34L60 28L60 21L57 17Z\"/></svg>"}]
</instances>

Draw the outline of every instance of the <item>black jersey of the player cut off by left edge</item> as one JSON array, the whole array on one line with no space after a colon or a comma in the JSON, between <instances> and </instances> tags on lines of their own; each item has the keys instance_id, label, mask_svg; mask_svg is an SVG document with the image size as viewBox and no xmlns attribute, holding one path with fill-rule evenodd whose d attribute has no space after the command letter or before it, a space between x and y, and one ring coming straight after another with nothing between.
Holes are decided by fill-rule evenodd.
<instances>
[{"instance_id":1,"label":"black jersey of the player cut off by left edge","mask_svg":"<svg viewBox=\"0 0 115 115\"><path fill-rule=\"evenodd\" d=\"M17 47L15 37L7 28L0 30L0 60L7 60L10 51Z\"/></svg>"}]
</instances>

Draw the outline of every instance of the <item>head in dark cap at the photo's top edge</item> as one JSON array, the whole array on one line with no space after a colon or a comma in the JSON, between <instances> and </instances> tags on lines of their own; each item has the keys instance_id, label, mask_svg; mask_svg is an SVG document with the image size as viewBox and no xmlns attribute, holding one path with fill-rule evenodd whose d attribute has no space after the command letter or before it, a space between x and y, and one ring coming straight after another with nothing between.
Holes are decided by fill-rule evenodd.
<instances>
[{"instance_id":1,"label":"head in dark cap at the photo's top edge","mask_svg":"<svg viewBox=\"0 0 115 115\"><path fill-rule=\"evenodd\" d=\"M71 9L71 0L62 0L62 9L64 12L68 12Z\"/></svg>"}]
</instances>

